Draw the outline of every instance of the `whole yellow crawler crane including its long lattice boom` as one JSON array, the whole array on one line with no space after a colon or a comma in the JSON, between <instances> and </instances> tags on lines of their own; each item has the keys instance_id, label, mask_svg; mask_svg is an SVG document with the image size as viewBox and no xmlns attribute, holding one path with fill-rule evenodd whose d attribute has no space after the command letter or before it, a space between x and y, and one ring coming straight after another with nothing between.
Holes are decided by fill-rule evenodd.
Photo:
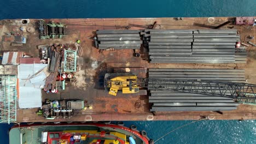
<instances>
[{"instance_id":1,"label":"whole yellow crawler crane including its long lattice boom","mask_svg":"<svg viewBox=\"0 0 256 144\"><path fill-rule=\"evenodd\" d=\"M256 105L256 85L249 83L220 82L205 80L144 79L135 75L106 74L104 86L111 95L138 93L139 89L155 91L177 91L232 98L237 103ZM131 79L132 77L132 79Z\"/></svg>"}]
</instances>

